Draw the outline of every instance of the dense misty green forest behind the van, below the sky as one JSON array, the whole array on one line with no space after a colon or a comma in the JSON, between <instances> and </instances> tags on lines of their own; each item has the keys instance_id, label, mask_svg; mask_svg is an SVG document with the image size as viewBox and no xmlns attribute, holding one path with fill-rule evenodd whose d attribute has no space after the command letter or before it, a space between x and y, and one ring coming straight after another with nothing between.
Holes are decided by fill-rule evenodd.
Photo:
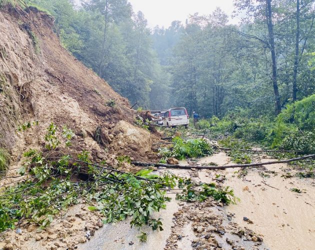
<instances>
[{"instance_id":1,"label":"dense misty green forest behind the van, below the sky","mask_svg":"<svg viewBox=\"0 0 315 250\"><path fill-rule=\"evenodd\" d=\"M273 118L315 92L313 0L235 0L239 25L217 8L153 29L127 0L27 3L53 15L63 46L143 108Z\"/></svg>"}]
</instances>

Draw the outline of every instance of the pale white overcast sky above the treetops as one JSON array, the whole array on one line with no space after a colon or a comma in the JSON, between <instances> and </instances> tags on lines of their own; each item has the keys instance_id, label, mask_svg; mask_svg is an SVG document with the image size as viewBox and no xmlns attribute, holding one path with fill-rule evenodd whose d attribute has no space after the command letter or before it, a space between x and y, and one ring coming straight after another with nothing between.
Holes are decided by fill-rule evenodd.
<instances>
[{"instance_id":1,"label":"pale white overcast sky above the treetops","mask_svg":"<svg viewBox=\"0 0 315 250\"><path fill-rule=\"evenodd\" d=\"M173 20L185 23L189 14L210 14L215 7L220 7L230 15L234 9L233 0L128 0L133 11L142 11L148 21L148 26L156 25L168 27ZM238 19L229 20L237 24Z\"/></svg>"}]
</instances>

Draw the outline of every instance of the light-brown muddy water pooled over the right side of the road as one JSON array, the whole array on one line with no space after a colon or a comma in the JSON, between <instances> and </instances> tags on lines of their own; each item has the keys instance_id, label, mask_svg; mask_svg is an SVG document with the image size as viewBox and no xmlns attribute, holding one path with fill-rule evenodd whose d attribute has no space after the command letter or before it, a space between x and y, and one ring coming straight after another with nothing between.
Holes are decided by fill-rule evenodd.
<instances>
[{"instance_id":1,"label":"light-brown muddy water pooled over the right side of the road","mask_svg":"<svg viewBox=\"0 0 315 250\"><path fill-rule=\"evenodd\" d=\"M262 162L269 160L262 159ZM222 153L202 159L204 163L211 161L225 164L229 159ZM271 249L315 249L314 180L281 177L287 168L286 164L266 167L275 173L253 168L248 169L245 177L237 178L234 172L238 168L215 172L226 175L224 184L231 186L240 198L236 205L226 206L226 211L235 213L233 221L239 225L262 234L264 242ZM269 174L270 177L259 173ZM209 181L211 175L214 173L208 170L199 173L202 181ZM305 189L305 193L293 192L290 190L292 187ZM252 220L253 224L244 221L244 216Z\"/></svg>"}]
</instances>

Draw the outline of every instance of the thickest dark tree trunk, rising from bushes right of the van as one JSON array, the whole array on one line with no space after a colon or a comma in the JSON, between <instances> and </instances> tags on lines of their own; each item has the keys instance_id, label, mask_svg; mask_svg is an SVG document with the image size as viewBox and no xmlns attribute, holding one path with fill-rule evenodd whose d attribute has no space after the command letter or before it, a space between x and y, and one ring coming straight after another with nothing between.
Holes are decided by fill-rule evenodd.
<instances>
[{"instance_id":1,"label":"thickest dark tree trunk, rising from bushes right of the van","mask_svg":"<svg viewBox=\"0 0 315 250\"><path fill-rule=\"evenodd\" d=\"M271 10L271 0L266 0L266 14L267 14L267 26L268 26L268 36L269 36L269 48L271 52L272 59L272 85L275 96L275 113L279 114L281 112L280 95L277 84L277 71L276 71L276 58L275 58L275 48L274 48L274 37L273 37L273 24L272 24L272 10Z\"/></svg>"}]
</instances>

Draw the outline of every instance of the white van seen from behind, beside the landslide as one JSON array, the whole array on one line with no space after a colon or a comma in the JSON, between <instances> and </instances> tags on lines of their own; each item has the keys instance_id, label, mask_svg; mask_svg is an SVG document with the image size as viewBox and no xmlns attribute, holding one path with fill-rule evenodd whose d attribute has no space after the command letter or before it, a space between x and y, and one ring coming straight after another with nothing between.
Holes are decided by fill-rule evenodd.
<instances>
[{"instance_id":1,"label":"white van seen from behind, beside the landslide","mask_svg":"<svg viewBox=\"0 0 315 250\"><path fill-rule=\"evenodd\" d=\"M164 113L163 126L175 127L184 125L186 128L189 124L189 116L186 108L174 107L170 108Z\"/></svg>"}]
</instances>

